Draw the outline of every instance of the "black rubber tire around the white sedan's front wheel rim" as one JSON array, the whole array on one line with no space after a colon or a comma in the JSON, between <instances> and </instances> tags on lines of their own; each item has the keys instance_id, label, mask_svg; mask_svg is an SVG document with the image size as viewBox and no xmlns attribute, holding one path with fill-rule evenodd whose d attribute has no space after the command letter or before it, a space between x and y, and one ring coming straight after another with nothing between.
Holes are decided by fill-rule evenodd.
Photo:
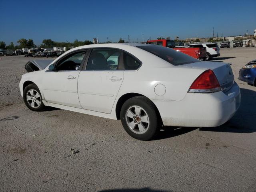
<instances>
[{"instance_id":1,"label":"black rubber tire around the white sedan's front wheel rim","mask_svg":"<svg viewBox=\"0 0 256 192\"><path fill-rule=\"evenodd\" d=\"M38 92L38 94L40 95L40 104L37 105L35 104L34 107L31 106L31 104L29 103L29 101L27 100L27 94L29 91L31 90L35 90L36 92ZM31 94L30 94L31 95ZM39 98L39 97L38 97ZM39 99L36 98L38 101ZM23 90L23 100L24 100L24 103L26 104L26 106L32 110L32 111L43 111L45 109L45 106L42 102L42 95L40 93L40 90L38 89L38 87L36 86L36 84L29 84L28 86L26 86Z\"/></svg>"}]
</instances>

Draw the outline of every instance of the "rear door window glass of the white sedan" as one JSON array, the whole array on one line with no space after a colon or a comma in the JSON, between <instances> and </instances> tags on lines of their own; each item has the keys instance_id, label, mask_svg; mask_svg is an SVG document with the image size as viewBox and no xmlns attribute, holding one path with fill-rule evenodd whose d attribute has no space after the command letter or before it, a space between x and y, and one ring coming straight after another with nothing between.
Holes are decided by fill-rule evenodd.
<instances>
[{"instance_id":1,"label":"rear door window glass of the white sedan","mask_svg":"<svg viewBox=\"0 0 256 192\"><path fill-rule=\"evenodd\" d=\"M117 49L93 49L86 70L119 70L121 50Z\"/></svg>"}]
</instances>

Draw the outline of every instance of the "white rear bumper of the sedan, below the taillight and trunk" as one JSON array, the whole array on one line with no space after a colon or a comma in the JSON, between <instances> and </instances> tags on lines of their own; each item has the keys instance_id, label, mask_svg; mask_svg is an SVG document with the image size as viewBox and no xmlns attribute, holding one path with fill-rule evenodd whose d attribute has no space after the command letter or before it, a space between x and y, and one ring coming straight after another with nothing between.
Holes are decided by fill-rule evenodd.
<instances>
[{"instance_id":1,"label":"white rear bumper of the sedan, below the taillight and trunk","mask_svg":"<svg viewBox=\"0 0 256 192\"><path fill-rule=\"evenodd\" d=\"M227 122L240 106L240 88L228 92L187 93L181 101L152 100L164 126L216 127Z\"/></svg>"}]
</instances>

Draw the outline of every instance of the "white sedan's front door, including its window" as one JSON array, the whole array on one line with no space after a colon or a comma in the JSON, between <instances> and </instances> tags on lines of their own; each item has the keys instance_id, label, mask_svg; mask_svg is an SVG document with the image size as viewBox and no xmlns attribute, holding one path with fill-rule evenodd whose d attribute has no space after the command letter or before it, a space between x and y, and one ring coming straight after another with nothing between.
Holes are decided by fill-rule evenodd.
<instances>
[{"instance_id":1,"label":"white sedan's front door, including its window","mask_svg":"<svg viewBox=\"0 0 256 192\"><path fill-rule=\"evenodd\" d=\"M86 50L75 51L57 61L55 70L46 70L42 84L47 102L81 108L77 82L85 55Z\"/></svg>"}]
</instances>

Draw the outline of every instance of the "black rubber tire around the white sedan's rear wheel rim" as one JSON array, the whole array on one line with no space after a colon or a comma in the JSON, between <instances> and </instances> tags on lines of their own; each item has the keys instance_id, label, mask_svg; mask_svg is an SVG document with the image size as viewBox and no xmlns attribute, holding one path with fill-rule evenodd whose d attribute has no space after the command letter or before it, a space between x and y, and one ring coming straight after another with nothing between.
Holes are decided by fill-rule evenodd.
<instances>
[{"instance_id":1,"label":"black rubber tire around the white sedan's rear wheel rim","mask_svg":"<svg viewBox=\"0 0 256 192\"><path fill-rule=\"evenodd\" d=\"M130 127L126 123L126 112L132 106L139 106L143 108L143 110L145 110L146 114L148 115L149 124L146 132L144 133L135 133L130 129ZM124 104L122 105L120 117L124 130L130 136L138 140L150 140L154 136L156 136L158 130L160 130L161 121L158 115L158 110L154 103L144 96L136 96L126 100L126 102L124 102Z\"/></svg>"}]
</instances>

